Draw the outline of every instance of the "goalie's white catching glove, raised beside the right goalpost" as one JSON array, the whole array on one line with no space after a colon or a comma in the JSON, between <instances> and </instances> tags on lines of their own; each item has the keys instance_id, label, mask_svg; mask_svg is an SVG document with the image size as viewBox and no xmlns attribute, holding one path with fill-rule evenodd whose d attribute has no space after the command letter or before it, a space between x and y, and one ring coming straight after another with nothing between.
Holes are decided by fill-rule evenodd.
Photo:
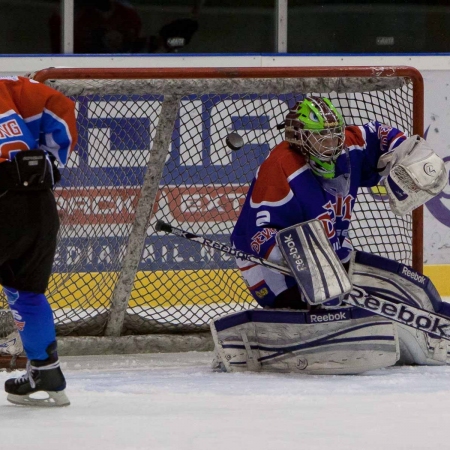
<instances>
[{"instance_id":1,"label":"goalie's white catching glove, raised beside the right goalpost","mask_svg":"<svg viewBox=\"0 0 450 450\"><path fill-rule=\"evenodd\" d=\"M444 161L418 135L381 156L378 168L381 176L386 177L383 184L391 210L399 216L431 200L448 181Z\"/></svg>"}]
</instances>

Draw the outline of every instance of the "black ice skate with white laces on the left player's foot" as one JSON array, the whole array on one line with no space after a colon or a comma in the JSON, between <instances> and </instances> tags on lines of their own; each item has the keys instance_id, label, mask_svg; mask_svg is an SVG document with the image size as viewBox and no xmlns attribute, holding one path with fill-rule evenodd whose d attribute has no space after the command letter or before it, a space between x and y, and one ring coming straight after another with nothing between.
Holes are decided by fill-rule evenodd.
<instances>
[{"instance_id":1,"label":"black ice skate with white laces on the left player's foot","mask_svg":"<svg viewBox=\"0 0 450 450\"><path fill-rule=\"evenodd\" d=\"M66 380L59 367L56 342L47 349L49 357L44 361L32 360L27 363L27 373L5 382L7 400L16 405L28 406L68 406L70 401L64 392ZM44 393L37 396L32 394Z\"/></svg>"}]
</instances>

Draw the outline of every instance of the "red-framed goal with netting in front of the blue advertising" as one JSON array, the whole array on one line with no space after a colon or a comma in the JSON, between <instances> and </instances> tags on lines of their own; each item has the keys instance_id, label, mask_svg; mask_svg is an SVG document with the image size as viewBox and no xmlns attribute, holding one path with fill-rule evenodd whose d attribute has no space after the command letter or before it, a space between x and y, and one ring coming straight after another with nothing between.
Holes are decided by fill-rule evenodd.
<instances>
[{"instance_id":1,"label":"red-framed goal with netting in front of the blue advertising","mask_svg":"<svg viewBox=\"0 0 450 450\"><path fill-rule=\"evenodd\" d=\"M283 140L277 125L305 95L328 96L347 124L423 131L422 78L406 67L48 69L34 78L77 108L79 141L55 191L48 296L60 336L188 333L256 307L233 258L154 226L229 243L258 165ZM231 132L244 140L238 151L225 144ZM421 210L393 215L382 188L362 189L352 242L421 270L421 220Z\"/></svg>"}]
</instances>

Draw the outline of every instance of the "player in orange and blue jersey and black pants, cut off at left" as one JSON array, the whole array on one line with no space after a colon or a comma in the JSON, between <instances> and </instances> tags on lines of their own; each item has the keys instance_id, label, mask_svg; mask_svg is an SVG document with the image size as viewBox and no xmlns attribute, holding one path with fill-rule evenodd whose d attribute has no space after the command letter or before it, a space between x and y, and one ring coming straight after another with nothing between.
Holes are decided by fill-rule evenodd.
<instances>
[{"instance_id":1,"label":"player in orange and blue jersey and black pants, cut off at left","mask_svg":"<svg viewBox=\"0 0 450 450\"><path fill-rule=\"evenodd\" d=\"M59 229L52 190L76 140L70 99L27 78L0 78L0 284L28 358L27 373L5 383L16 404L69 404L45 291ZM38 391L47 397L33 398Z\"/></svg>"}]
</instances>

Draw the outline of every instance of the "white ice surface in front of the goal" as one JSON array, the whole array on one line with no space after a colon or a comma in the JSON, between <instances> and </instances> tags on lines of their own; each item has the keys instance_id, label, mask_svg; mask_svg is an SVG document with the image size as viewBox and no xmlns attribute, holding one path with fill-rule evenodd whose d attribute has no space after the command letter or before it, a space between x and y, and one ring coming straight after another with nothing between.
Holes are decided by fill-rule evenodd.
<instances>
[{"instance_id":1,"label":"white ice surface in front of the goal","mask_svg":"<svg viewBox=\"0 0 450 450\"><path fill-rule=\"evenodd\" d=\"M62 358L67 408L0 399L1 449L447 449L450 366L213 373L211 353ZM14 373L14 376L19 372ZM0 372L0 382L11 374Z\"/></svg>"}]
</instances>

